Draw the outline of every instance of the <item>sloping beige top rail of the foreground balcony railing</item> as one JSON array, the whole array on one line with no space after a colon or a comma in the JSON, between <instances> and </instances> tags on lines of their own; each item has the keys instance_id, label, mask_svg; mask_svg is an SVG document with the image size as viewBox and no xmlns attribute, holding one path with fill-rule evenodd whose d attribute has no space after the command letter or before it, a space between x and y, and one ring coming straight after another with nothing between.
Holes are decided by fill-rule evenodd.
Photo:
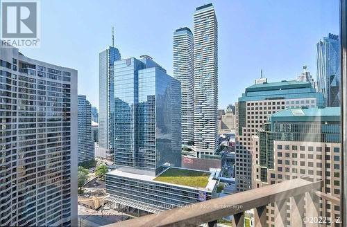
<instances>
[{"instance_id":1,"label":"sloping beige top rail of the foreground balcony railing","mask_svg":"<svg viewBox=\"0 0 347 227\"><path fill-rule=\"evenodd\" d=\"M237 217L237 215L242 214L244 211L253 208L262 208L264 210L264 207L269 203L276 203L277 201L284 201L291 197L305 195L307 192L316 194L316 191L321 190L322 187L323 181L311 182L307 179L283 181L263 188L256 188L246 192L230 194L226 197L194 203L183 208L121 221L116 224L107 225L107 227L198 226L199 224L211 223L212 221L230 215ZM264 212L260 219L266 222L266 214L264 216Z\"/></svg>"}]
</instances>

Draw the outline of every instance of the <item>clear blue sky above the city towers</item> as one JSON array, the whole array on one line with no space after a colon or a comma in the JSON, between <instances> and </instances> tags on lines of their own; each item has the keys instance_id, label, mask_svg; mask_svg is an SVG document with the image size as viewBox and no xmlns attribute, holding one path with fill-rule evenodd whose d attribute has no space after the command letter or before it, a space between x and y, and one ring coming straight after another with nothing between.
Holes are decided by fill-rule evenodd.
<instances>
[{"instance_id":1,"label":"clear blue sky above the city towers","mask_svg":"<svg viewBox=\"0 0 347 227\"><path fill-rule=\"evenodd\" d=\"M172 75L172 35L193 28L196 7L212 2L219 23L219 108L264 76L291 80L306 64L316 77L316 42L339 33L339 1L292 0L42 0L41 47L20 50L78 70L78 93L99 108L99 52L147 54Z\"/></svg>"}]
</instances>

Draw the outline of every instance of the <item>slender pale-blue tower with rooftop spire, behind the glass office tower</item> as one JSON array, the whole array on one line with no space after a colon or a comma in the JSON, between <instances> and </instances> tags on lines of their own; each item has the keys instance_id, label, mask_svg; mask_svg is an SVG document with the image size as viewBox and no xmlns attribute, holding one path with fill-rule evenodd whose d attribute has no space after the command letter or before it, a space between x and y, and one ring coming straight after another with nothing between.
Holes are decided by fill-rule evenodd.
<instances>
[{"instance_id":1,"label":"slender pale-blue tower with rooftop spire, behind the glass office tower","mask_svg":"<svg viewBox=\"0 0 347 227\"><path fill-rule=\"evenodd\" d=\"M108 46L99 53L99 147L112 160L115 109L114 62L121 59L118 49Z\"/></svg>"}]
</instances>

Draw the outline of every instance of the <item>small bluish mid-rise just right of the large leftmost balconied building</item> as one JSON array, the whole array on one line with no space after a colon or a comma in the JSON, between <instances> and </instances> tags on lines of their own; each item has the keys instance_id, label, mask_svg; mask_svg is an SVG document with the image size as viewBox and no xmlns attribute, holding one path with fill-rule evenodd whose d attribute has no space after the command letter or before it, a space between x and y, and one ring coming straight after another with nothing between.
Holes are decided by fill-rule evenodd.
<instances>
[{"instance_id":1,"label":"small bluish mid-rise just right of the large leftmost balconied building","mask_svg":"<svg viewBox=\"0 0 347 227\"><path fill-rule=\"evenodd\" d=\"M94 160L92 105L86 96L78 95L78 163Z\"/></svg>"}]
</instances>

